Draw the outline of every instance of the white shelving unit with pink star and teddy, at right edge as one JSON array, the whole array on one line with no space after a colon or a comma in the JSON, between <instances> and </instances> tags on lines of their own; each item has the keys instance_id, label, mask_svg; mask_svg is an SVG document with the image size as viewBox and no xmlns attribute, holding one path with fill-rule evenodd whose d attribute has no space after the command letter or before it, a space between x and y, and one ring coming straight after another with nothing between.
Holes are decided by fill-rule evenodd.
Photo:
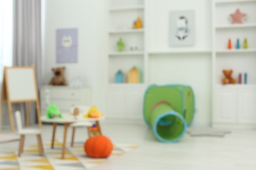
<instances>
[{"instance_id":1,"label":"white shelving unit with pink star and teddy, at right edge","mask_svg":"<svg viewBox=\"0 0 256 170\"><path fill-rule=\"evenodd\" d=\"M213 0L213 126L256 126L256 1ZM244 24L230 24L228 16L236 9L247 13ZM244 38L248 48L243 49ZM233 49L228 50L228 39ZM236 40L240 39L240 49ZM238 81L239 73L247 73L247 84L222 85L223 69L233 69Z\"/></svg>"}]
</instances>

